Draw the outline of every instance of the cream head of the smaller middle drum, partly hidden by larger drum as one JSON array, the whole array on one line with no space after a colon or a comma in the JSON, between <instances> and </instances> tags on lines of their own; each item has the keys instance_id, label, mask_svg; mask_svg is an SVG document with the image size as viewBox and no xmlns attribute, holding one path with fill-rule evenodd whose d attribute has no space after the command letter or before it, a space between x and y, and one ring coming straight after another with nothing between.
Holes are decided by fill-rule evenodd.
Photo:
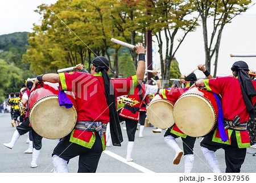
<instances>
[{"instance_id":1,"label":"cream head of the smaller middle drum, partly hidden by larger drum","mask_svg":"<svg viewBox=\"0 0 256 183\"><path fill-rule=\"evenodd\" d=\"M168 100L159 99L151 102L147 108L148 121L159 129L171 127L174 125L173 108L174 105Z\"/></svg>"}]
</instances>

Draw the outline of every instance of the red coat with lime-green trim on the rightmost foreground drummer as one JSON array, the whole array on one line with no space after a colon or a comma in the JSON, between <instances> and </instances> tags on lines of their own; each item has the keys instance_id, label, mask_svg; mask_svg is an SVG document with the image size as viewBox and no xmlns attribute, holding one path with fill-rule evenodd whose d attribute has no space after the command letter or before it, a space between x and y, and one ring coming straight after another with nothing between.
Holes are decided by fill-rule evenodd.
<instances>
[{"instance_id":1,"label":"red coat with lime-green trim on the rightmost foreground drummer","mask_svg":"<svg viewBox=\"0 0 256 183\"><path fill-rule=\"evenodd\" d=\"M222 96L221 105L223 110L224 120L233 121L236 116L240 117L239 122L247 122L249 113L247 112L245 101L243 100L240 82L237 78L223 77L216 79L205 79L204 84L207 91L220 94ZM256 88L256 82L253 82ZM256 102L256 97L253 97L253 105ZM231 134L234 130L226 129L225 133L228 141L223 142L220 137L218 127L213 134L213 142L231 144ZM236 140L239 148L250 147L250 137L248 131L235 131Z\"/></svg>"}]
</instances>

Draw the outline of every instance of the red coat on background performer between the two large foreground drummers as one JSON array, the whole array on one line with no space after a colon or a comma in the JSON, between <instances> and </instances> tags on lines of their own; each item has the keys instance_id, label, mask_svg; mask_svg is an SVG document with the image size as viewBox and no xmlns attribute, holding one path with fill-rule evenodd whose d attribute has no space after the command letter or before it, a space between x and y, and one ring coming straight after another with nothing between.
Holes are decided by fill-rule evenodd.
<instances>
[{"instance_id":1,"label":"red coat on background performer between the two large foreground drummers","mask_svg":"<svg viewBox=\"0 0 256 183\"><path fill-rule=\"evenodd\" d=\"M146 84L141 84L142 88L142 99L146 93L147 86ZM120 116L129 118L131 120L139 121L139 108L141 108L143 100L141 100L141 97L139 95L139 87L135 87L134 94L128 96L130 99L139 101L138 104L134 105L133 107L130 107L129 105L126 105L121 109L121 112L119 113Z\"/></svg>"}]
</instances>

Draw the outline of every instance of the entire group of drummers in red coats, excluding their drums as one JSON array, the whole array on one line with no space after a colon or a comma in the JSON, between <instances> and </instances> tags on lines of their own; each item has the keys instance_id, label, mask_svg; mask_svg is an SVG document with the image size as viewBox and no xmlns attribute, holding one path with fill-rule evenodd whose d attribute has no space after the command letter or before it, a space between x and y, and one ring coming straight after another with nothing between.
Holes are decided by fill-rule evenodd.
<instances>
[{"instance_id":1,"label":"entire group of drummers in red coats, excluding their drums","mask_svg":"<svg viewBox=\"0 0 256 183\"><path fill-rule=\"evenodd\" d=\"M123 141L121 121L125 121L129 140L126 160L133 161L131 154L134 147L135 131L139 122L141 124L139 137L143 137L146 108L149 103L148 95L159 94L162 99L169 100L172 103L175 103L181 96L181 88L162 89L156 71L153 71L157 82L156 86L143 83L146 50L142 44L137 44L136 48L138 54L136 75L128 78L110 79L108 76L108 59L98 56L92 61L90 74L83 69L82 65L77 65L76 69L80 71L42 74L37 76L34 83L27 82L27 90L22 96L22 102L25 107L30 91L39 82L59 83L60 90L80 92L82 95L76 97L77 124L70 134L60 139L52 152L55 172L69 172L68 161L76 156L79 156L78 172L96 172L102 151L106 148L107 125L111 135L109 139L111 139L113 146L121 146ZM250 147L247 121L249 118L251 120L254 119L256 82L251 81L249 67L243 61L233 64L231 68L233 77L227 76L214 79L203 65L198 67L199 70L203 71L207 79L197 80L196 75L192 73L184 78L185 88L181 90L184 93L198 86L206 87L207 91L221 95L225 126L224 131L222 131L222 136L224 134L225 138L220 137L220 129L216 127L201 141L201 150L213 172L221 172L215 155L215 151L220 148L225 150L226 172L240 172L241 165L245 160L246 148ZM73 82L73 80L79 82ZM93 84L88 85L88 83ZM97 88L97 92L94 95L90 95L95 88ZM126 96L128 99L137 101L137 103L134 105L127 103L123 108L117 110L116 99L119 96ZM255 122L251 124L255 125ZM37 167L36 161L42 148L42 137L32 129L28 112L26 112L22 123L16 126L11 142L4 145L8 148L13 148L20 135L27 132L31 134L30 140L33 148L31 167L35 168ZM181 150L175 140L178 137L181 137L183 141L183 150ZM175 151L173 164L179 164L184 154L184 172L192 171L195 141L196 137L189 137L179 130L176 125L169 127L164 134L164 142Z\"/></svg>"}]
</instances>

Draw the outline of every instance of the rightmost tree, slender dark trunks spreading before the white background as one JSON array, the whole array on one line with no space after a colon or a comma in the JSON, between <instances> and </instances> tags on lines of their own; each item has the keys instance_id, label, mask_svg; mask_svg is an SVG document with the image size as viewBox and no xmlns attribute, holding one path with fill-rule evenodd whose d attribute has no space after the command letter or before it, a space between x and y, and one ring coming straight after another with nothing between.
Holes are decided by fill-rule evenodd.
<instances>
[{"instance_id":1,"label":"rightmost tree, slender dark trunks spreading before the white background","mask_svg":"<svg viewBox=\"0 0 256 183\"><path fill-rule=\"evenodd\" d=\"M247 0L207 0L191 1L197 11L200 13L203 24L203 38L205 50L205 67L210 72L212 57L215 54L214 74L216 77L218 52L220 49L221 35L224 26L231 23L231 20L241 12L249 8L251 1ZM209 31L208 23L213 25L212 31Z\"/></svg>"}]
</instances>

